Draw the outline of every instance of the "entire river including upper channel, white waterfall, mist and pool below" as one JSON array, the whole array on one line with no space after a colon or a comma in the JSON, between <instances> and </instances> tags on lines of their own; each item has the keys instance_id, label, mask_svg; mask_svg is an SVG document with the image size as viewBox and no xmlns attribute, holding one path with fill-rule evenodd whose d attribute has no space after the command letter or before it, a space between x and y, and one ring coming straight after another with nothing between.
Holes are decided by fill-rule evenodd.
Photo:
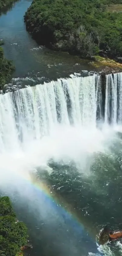
<instances>
[{"instance_id":1,"label":"entire river including upper channel, white waterfall, mist and pool below","mask_svg":"<svg viewBox=\"0 0 122 256\"><path fill-rule=\"evenodd\" d=\"M121 255L120 243L101 247L96 235L106 224L122 229L122 73L106 76L103 108L101 76L82 77L86 61L26 32L30 4L18 1L0 17L16 66L11 83L36 85L0 95L2 194L28 226L28 255Z\"/></svg>"}]
</instances>

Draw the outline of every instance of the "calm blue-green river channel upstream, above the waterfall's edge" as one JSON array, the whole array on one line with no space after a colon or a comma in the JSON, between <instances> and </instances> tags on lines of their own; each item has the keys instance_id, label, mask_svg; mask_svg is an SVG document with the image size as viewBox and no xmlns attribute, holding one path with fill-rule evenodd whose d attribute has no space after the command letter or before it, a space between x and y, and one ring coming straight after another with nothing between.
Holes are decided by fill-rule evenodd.
<instances>
[{"instance_id":1,"label":"calm blue-green river channel upstream, above the waterfall's edge","mask_svg":"<svg viewBox=\"0 0 122 256\"><path fill-rule=\"evenodd\" d=\"M26 31L23 20L30 4L31 0L18 1L0 17L0 37L5 41L5 56L13 59L16 67L12 83L33 85L66 77L79 70L91 70L91 66L79 57L37 45Z\"/></svg>"}]
</instances>

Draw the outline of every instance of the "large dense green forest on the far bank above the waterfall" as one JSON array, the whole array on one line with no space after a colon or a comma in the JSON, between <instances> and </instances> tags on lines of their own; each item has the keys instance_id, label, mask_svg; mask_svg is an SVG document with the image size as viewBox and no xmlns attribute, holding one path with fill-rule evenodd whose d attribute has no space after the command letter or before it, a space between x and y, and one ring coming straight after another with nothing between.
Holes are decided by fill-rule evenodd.
<instances>
[{"instance_id":1,"label":"large dense green forest on the far bank above the waterfall","mask_svg":"<svg viewBox=\"0 0 122 256\"><path fill-rule=\"evenodd\" d=\"M122 0L33 0L24 17L26 29L53 49L82 57L122 56L122 12L108 11L112 4Z\"/></svg>"}]
</instances>

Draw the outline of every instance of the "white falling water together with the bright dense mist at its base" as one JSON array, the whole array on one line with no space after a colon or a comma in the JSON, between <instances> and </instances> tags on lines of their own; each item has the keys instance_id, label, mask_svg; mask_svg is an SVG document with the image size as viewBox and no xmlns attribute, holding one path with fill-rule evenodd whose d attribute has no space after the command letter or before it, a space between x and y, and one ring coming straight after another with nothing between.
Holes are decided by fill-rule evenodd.
<instances>
[{"instance_id":1,"label":"white falling water together with the bright dense mist at its base","mask_svg":"<svg viewBox=\"0 0 122 256\"><path fill-rule=\"evenodd\" d=\"M117 119L117 90L122 119L120 85L121 74L114 79L106 76L106 123L111 115L111 91L112 120ZM80 170L90 170L89 156L104 152L104 142L108 140L108 146L113 136L110 129L96 127L96 119L104 119L102 104L101 76L97 74L58 79L0 95L0 180L5 174L6 182L6 174L16 170L28 173L46 166L51 158L66 163L73 160L80 164Z\"/></svg>"}]
</instances>

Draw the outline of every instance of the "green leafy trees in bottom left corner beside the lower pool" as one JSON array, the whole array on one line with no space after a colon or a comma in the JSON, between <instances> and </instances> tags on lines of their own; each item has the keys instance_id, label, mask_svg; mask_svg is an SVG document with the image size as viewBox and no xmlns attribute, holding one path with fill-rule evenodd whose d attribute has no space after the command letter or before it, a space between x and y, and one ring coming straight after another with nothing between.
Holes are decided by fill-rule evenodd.
<instances>
[{"instance_id":1,"label":"green leafy trees in bottom left corner beside the lower pool","mask_svg":"<svg viewBox=\"0 0 122 256\"><path fill-rule=\"evenodd\" d=\"M17 222L9 197L0 197L0 255L16 256L27 243L27 227Z\"/></svg>"}]
</instances>

